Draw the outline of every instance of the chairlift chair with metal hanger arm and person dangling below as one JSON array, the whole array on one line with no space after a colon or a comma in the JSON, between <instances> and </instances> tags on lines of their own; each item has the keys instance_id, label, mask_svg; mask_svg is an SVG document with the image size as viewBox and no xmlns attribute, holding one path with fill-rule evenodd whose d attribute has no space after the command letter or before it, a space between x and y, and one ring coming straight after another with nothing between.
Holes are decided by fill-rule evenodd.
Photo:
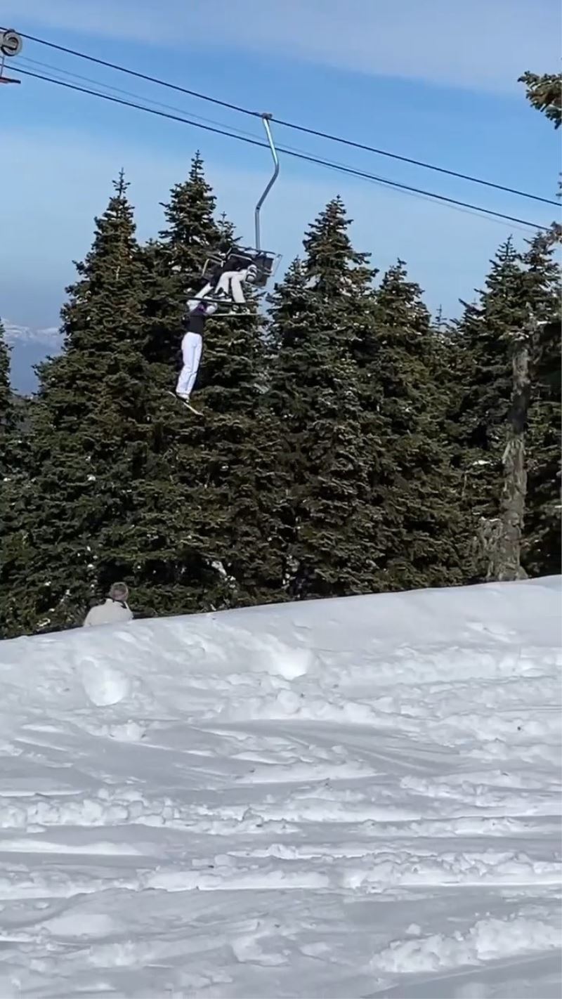
<instances>
[{"instance_id":1,"label":"chairlift chair with metal hanger arm and person dangling below","mask_svg":"<svg viewBox=\"0 0 562 999\"><path fill-rule=\"evenodd\" d=\"M193 413L198 413L198 411L191 406L190 397L201 363L203 334L207 320L216 312L219 312L220 316L254 315L248 311L244 285L266 288L274 273L275 265L279 263L278 255L262 250L260 232L260 211L280 172L278 153L270 129L271 117L271 115L264 114L262 121L274 158L275 169L256 206L256 248L249 250L232 247L226 254L211 257L203 269L202 277L206 279L204 287L193 299L188 301L188 328L182 340L184 365L180 372L175 395Z\"/></svg>"}]
</instances>

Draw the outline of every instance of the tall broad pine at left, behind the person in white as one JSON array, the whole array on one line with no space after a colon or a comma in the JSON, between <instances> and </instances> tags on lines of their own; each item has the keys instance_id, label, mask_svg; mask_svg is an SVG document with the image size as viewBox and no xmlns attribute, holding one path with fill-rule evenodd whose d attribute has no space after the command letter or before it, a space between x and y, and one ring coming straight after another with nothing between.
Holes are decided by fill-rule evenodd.
<instances>
[{"instance_id":1,"label":"tall broad pine at left, behind the person in white","mask_svg":"<svg viewBox=\"0 0 562 999\"><path fill-rule=\"evenodd\" d=\"M91 251L62 311L60 357L40 366L32 408L31 495L22 557L10 585L12 632L64 627L117 576L135 584L150 537L139 511L151 496L162 431L151 422L152 387L142 355L143 279L133 209L121 175ZM156 455L156 457L155 457Z\"/></svg>"}]
</instances>

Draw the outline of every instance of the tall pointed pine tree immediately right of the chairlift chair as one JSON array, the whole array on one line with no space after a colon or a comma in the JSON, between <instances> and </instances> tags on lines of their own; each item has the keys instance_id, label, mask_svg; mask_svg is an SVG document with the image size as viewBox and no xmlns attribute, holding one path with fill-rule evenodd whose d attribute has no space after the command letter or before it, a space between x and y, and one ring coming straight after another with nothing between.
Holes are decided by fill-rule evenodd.
<instances>
[{"instance_id":1,"label":"tall pointed pine tree immediately right of the chairlift chair","mask_svg":"<svg viewBox=\"0 0 562 999\"><path fill-rule=\"evenodd\" d=\"M269 407L279 421L274 502L283 587L292 598L371 588L377 553L368 448L352 347L372 272L331 201L273 297Z\"/></svg>"}]
</instances>

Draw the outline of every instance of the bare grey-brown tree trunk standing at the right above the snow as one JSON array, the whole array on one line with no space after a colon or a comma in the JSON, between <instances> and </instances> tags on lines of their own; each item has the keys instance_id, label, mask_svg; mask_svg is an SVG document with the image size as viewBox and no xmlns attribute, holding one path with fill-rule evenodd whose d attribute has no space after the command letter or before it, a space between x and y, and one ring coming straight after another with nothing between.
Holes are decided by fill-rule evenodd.
<instances>
[{"instance_id":1,"label":"bare grey-brown tree trunk standing at the right above the snow","mask_svg":"<svg viewBox=\"0 0 562 999\"><path fill-rule=\"evenodd\" d=\"M529 345L532 327L513 343L513 391L507 427L507 443L502 457L503 490L499 516L483 520L481 543L488 567L486 579L509 581L526 579L521 565L521 538L527 492L525 468L525 426L529 409Z\"/></svg>"}]
</instances>

